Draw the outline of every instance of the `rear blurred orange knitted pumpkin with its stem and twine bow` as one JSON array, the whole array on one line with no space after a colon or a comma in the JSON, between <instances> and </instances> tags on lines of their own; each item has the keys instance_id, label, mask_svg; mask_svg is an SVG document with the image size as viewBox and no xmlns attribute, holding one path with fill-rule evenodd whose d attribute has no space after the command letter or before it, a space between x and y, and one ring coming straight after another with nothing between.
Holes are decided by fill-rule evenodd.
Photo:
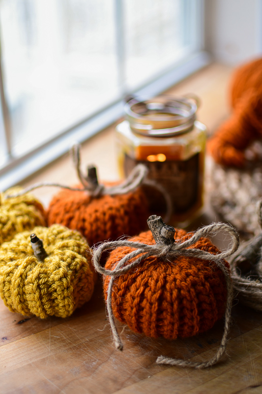
<instances>
[{"instance_id":1,"label":"rear blurred orange knitted pumpkin with its stem and twine bow","mask_svg":"<svg viewBox=\"0 0 262 394\"><path fill-rule=\"evenodd\" d=\"M87 167L87 176L80 170L79 146L73 146L73 159L82 185L61 190L50 202L48 225L61 224L78 230L89 245L123 235L135 235L146 227L148 201L141 185L157 188L167 201L170 198L160 185L146 180L148 169L137 165L121 184L99 184L96 168ZM70 189L70 190L69 190Z\"/></svg>"}]
</instances>

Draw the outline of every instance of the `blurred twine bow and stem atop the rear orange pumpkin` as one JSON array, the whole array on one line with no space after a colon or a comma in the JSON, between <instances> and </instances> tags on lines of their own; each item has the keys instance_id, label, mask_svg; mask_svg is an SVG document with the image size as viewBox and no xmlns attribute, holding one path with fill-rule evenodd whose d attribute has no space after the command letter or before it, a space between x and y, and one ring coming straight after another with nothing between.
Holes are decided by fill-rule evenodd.
<instances>
[{"instance_id":1,"label":"blurred twine bow and stem atop the rear orange pumpkin","mask_svg":"<svg viewBox=\"0 0 262 394\"><path fill-rule=\"evenodd\" d=\"M148 174L148 168L144 164L138 164L136 167L131 171L129 176L120 184L111 186L111 187L106 187L102 184L98 183L97 180L97 174L96 174L96 168L93 165L88 165L87 167L87 175L85 176L84 173L81 170L80 164L80 145L79 144L74 144L71 148L71 155L73 158L73 163L75 165L75 169L78 175L78 178L80 182L82 183L83 188L73 188L70 186L65 186L65 185L60 185L58 183L49 183L49 182L43 182L43 183L37 183L32 186L29 186L28 188L25 188L19 193L16 194L11 194L11 195L5 195L5 198L11 198L11 197L18 197L22 196L28 192L31 192L32 190L44 187L44 186L53 186L53 187L59 187L62 189L68 189L76 192L83 192L86 191L88 195L91 197L99 197L99 196L104 196L104 195L110 195L110 196L115 196L115 195L121 195L121 194L126 194L134 191L137 189L139 186L142 184L148 185L153 187L154 189L157 189L165 198L166 201L166 216L165 220L168 221L169 218L171 217L172 214L172 201L162 185L159 183L147 179L146 176Z\"/></svg>"}]
</instances>

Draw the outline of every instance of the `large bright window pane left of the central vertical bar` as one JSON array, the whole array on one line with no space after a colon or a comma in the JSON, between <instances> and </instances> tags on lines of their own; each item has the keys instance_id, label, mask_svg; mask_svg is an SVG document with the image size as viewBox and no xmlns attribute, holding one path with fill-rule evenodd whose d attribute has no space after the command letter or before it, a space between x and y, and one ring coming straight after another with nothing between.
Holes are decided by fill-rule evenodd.
<instances>
[{"instance_id":1,"label":"large bright window pane left of the central vertical bar","mask_svg":"<svg viewBox=\"0 0 262 394\"><path fill-rule=\"evenodd\" d=\"M20 156L118 98L113 0L1 0L4 87Z\"/></svg>"}]
</instances>

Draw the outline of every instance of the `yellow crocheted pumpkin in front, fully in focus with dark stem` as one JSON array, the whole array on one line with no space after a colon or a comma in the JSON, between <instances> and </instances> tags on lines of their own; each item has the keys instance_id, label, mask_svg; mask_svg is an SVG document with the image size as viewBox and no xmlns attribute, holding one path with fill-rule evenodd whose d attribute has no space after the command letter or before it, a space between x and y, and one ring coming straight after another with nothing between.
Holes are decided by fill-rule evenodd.
<instances>
[{"instance_id":1,"label":"yellow crocheted pumpkin in front, fully in focus with dark stem","mask_svg":"<svg viewBox=\"0 0 262 394\"><path fill-rule=\"evenodd\" d=\"M36 227L33 232L45 253L38 261L31 232L16 234L0 246L0 296L11 311L22 315L70 316L93 293L95 273L87 242L79 232L60 225Z\"/></svg>"}]
</instances>

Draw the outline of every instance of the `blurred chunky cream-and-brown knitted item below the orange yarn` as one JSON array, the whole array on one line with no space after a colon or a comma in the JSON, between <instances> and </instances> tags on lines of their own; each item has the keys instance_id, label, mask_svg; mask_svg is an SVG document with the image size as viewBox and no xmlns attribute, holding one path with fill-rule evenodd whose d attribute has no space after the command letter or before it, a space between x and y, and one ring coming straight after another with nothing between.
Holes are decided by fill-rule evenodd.
<instances>
[{"instance_id":1,"label":"blurred chunky cream-and-brown knitted item below the orange yarn","mask_svg":"<svg viewBox=\"0 0 262 394\"><path fill-rule=\"evenodd\" d=\"M208 197L219 219L231 223L246 238L260 233L255 205L262 198L262 159L250 162L245 169L209 160Z\"/></svg>"}]
</instances>

